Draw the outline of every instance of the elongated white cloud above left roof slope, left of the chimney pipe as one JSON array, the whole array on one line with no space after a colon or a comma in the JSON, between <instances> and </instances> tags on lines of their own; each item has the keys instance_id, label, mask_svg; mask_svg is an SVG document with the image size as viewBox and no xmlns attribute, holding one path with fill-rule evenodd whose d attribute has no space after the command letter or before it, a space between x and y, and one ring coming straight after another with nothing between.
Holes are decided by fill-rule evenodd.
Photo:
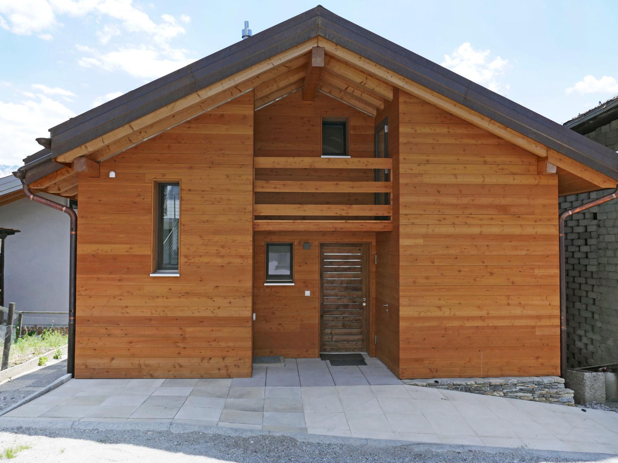
<instances>
[{"instance_id":1,"label":"elongated white cloud above left roof slope, left of the chimney pipe","mask_svg":"<svg viewBox=\"0 0 618 463\"><path fill-rule=\"evenodd\" d=\"M78 49L91 54L80 58L78 63L83 67L99 67L111 72L124 71L143 79L161 77L194 61L185 55L184 50L162 51L153 46L121 48L108 53L100 53L83 46L78 46Z\"/></svg>"}]
</instances>

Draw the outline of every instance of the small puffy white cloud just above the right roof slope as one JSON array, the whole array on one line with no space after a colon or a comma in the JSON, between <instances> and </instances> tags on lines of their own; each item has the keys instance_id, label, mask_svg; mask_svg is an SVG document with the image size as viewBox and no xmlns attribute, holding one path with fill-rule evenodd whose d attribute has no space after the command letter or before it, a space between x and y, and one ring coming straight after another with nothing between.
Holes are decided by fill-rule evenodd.
<instances>
[{"instance_id":1,"label":"small puffy white cloud just above the right roof slope","mask_svg":"<svg viewBox=\"0 0 618 463\"><path fill-rule=\"evenodd\" d=\"M495 92L509 90L509 85L501 85L498 77L504 73L509 62L497 56L489 58L489 50L475 50L469 42L462 43L451 55L444 55L442 66L451 69Z\"/></svg>"}]
</instances>

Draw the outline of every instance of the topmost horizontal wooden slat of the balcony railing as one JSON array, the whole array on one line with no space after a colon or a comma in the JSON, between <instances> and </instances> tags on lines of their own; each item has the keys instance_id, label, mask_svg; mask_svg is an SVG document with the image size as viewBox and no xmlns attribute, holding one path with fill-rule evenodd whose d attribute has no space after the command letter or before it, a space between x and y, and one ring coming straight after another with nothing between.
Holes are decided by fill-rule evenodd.
<instances>
[{"instance_id":1,"label":"topmost horizontal wooden slat of the balcony railing","mask_svg":"<svg viewBox=\"0 0 618 463\"><path fill-rule=\"evenodd\" d=\"M255 157L256 169L392 169L392 159L381 157Z\"/></svg>"}]
</instances>

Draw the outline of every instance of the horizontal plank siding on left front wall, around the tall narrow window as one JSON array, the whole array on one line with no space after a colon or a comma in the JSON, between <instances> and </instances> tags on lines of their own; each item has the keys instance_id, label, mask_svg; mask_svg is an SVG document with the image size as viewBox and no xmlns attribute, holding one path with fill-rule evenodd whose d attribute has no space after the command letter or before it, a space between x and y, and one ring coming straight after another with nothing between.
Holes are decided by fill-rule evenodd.
<instances>
[{"instance_id":1,"label":"horizontal plank siding on left front wall, around the tall narrow window","mask_svg":"<svg viewBox=\"0 0 618 463\"><path fill-rule=\"evenodd\" d=\"M109 177L110 171L115 178ZM180 277L150 277L153 182L180 182ZM252 371L253 92L79 178L77 378Z\"/></svg>"}]
</instances>

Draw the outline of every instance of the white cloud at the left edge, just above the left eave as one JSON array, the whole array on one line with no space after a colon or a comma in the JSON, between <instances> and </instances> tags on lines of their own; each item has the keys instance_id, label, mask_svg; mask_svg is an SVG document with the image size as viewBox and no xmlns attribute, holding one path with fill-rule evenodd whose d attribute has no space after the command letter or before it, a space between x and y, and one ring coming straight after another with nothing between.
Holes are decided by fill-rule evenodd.
<instances>
[{"instance_id":1,"label":"white cloud at the left edge, just above the left eave","mask_svg":"<svg viewBox=\"0 0 618 463\"><path fill-rule=\"evenodd\" d=\"M35 138L49 136L49 127L74 116L64 104L43 93L20 102L0 101L0 164L22 165L24 157L41 148Z\"/></svg>"}]
</instances>

